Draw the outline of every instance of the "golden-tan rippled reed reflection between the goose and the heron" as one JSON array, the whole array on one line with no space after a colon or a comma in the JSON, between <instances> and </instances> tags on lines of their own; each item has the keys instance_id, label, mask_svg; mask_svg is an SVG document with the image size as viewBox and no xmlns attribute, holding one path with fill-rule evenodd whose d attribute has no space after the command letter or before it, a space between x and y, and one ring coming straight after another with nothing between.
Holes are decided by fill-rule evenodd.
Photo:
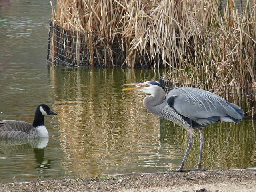
<instances>
[{"instance_id":1,"label":"golden-tan rippled reed reflection between the goose and the heron","mask_svg":"<svg viewBox=\"0 0 256 192\"><path fill-rule=\"evenodd\" d=\"M140 146L158 149L152 140L159 135L159 119L145 111L143 95L131 100L132 93L124 93L121 85L135 79L158 79L157 73L58 69L54 65L50 71L56 95L54 110L58 111L60 141L66 154L63 164L68 169L78 170L76 176L96 176L102 172L123 172L125 166L140 172L138 163L143 164L142 169L153 168L150 164L157 161L155 152ZM147 158L148 162L140 162Z\"/></svg>"}]
</instances>

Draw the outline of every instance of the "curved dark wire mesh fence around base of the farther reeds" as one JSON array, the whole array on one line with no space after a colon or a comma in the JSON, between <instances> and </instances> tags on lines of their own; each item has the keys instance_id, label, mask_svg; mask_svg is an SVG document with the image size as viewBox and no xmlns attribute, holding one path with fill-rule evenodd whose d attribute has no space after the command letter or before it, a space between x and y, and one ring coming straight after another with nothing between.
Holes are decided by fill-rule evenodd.
<instances>
[{"instance_id":1,"label":"curved dark wire mesh fence around base of the farther reeds","mask_svg":"<svg viewBox=\"0 0 256 192\"><path fill-rule=\"evenodd\" d=\"M128 52L127 41L122 36L68 30L50 22L48 62L90 67L147 65L145 58L138 54L128 60Z\"/></svg>"}]
</instances>

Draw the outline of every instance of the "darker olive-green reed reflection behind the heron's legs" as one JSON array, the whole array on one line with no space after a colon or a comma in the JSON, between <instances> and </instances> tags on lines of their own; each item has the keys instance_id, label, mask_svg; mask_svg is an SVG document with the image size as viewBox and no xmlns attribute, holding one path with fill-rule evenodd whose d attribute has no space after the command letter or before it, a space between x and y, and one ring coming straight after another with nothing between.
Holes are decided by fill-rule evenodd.
<instances>
[{"instance_id":1,"label":"darker olive-green reed reflection behind the heron's legs","mask_svg":"<svg viewBox=\"0 0 256 192\"><path fill-rule=\"evenodd\" d=\"M237 169L256 166L256 129L254 121L235 123L216 123L204 128L205 137L202 156L202 166L209 170ZM160 142L168 143L170 154L175 151L180 154L186 151L188 144L186 130L175 126L166 119L160 119ZM183 146L180 148L180 146ZM188 168L196 167L198 162L200 141L194 137L194 143L188 154ZM172 158L172 157L170 157Z\"/></svg>"}]
</instances>

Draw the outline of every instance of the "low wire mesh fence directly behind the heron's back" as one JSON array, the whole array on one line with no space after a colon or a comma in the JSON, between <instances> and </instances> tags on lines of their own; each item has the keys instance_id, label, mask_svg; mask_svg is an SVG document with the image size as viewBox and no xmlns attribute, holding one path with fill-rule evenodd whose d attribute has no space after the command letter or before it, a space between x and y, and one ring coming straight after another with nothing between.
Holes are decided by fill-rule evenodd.
<instances>
[{"instance_id":1,"label":"low wire mesh fence directly behind the heron's back","mask_svg":"<svg viewBox=\"0 0 256 192\"><path fill-rule=\"evenodd\" d=\"M256 87L190 84L173 82L166 80L166 78L168 77L159 77L160 84L166 88L166 94L176 87L204 89L223 97L230 103L240 106L245 116L256 118Z\"/></svg>"}]
</instances>

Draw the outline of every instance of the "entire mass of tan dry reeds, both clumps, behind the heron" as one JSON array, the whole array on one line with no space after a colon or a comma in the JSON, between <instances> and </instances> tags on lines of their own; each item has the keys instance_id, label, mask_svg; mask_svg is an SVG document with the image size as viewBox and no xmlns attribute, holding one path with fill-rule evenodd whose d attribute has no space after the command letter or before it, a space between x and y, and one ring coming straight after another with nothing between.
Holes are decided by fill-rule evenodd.
<instances>
[{"instance_id":1,"label":"entire mass of tan dry reeds, both clumps, behind the heron","mask_svg":"<svg viewBox=\"0 0 256 192\"><path fill-rule=\"evenodd\" d=\"M233 0L57 0L48 61L168 67L170 81L241 93L229 97L255 114L255 18L249 1L238 12Z\"/></svg>"}]
</instances>

